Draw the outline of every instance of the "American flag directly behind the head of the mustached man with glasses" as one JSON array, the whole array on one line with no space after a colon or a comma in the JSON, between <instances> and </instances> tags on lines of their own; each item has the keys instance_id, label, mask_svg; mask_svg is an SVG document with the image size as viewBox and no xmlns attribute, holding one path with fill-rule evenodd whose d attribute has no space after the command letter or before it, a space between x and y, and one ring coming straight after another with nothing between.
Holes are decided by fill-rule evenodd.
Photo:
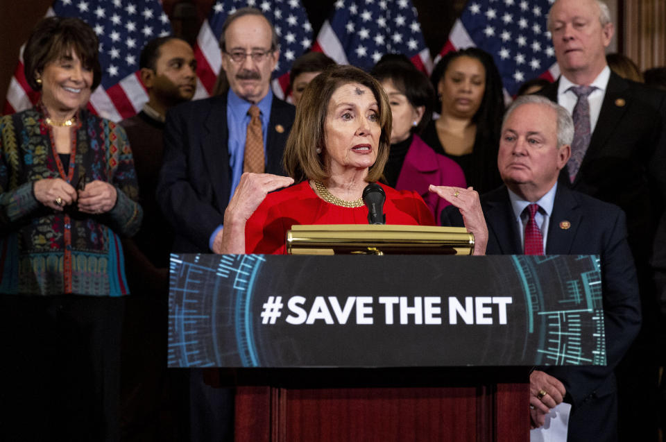
<instances>
[{"instance_id":1,"label":"American flag directly behind the head of the mustached man with glasses","mask_svg":"<svg viewBox=\"0 0 666 442\"><path fill-rule=\"evenodd\" d=\"M261 10L280 37L280 60L273 72L273 92L284 99L289 87L291 63L312 46L312 26L299 0L217 1L196 39L194 55L197 60L198 85L195 99L209 96L213 91L222 64L218 42L225 19L246 6Z\"/></svg>"}]
</instances>

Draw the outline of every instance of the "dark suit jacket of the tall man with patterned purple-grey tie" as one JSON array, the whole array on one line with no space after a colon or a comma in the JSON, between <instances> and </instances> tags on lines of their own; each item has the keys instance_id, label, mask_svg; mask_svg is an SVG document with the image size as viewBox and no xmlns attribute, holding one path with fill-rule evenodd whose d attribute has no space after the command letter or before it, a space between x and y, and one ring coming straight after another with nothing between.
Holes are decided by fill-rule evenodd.
<instances>
[{"instance_id":1,"label":"dark suit jacket of the tall man with patterned purple-grey tie","mask_svg":"<svg viewBox=\"0 0 666 442\"><path fill-rule=\"evenodd\" d=\"M538 94L557 101L558 83ZM561 185L624 210L636 266L647 269L666 201L666 94L611 72L581 169L573 183L568 176L565 167Z\"/></svg>"}]
</instances>

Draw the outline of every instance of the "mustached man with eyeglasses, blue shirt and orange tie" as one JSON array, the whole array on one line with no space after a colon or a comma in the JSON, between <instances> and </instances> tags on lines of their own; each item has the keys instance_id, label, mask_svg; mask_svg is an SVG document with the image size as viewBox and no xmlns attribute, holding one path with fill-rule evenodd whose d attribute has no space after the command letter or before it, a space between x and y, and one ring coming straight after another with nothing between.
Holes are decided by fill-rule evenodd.
<instances>
[{"instance_id":1,"label":"mustached man with eyeglasses, blue shirt and orange tie","mask_svg":"<svg viewBox=\"0 0 666 442\"><path fill-rule=\"evenodd\" d=\"M284 175L282 153L296 110L271 92L278 35L262 12L241 8L220 38L229 89L167 113L157 202L175 230L176 253L217 253L224 212L245 172ZM222 74L221 74L222 75ZM232 440L233 393L190 378L191 441Z\"/></svg>"}]
</instances>

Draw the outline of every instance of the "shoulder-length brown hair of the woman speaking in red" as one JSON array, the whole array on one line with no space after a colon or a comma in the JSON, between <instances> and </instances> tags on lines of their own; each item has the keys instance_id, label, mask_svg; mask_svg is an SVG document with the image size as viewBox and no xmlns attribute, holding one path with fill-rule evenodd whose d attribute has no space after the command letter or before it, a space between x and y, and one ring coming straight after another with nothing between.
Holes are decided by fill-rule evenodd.
<instances>
[{"instance_id":1,"label":"shoulder-length brown hair of the woman speaking in red","mask_svg":"<svg viewBox=\"0 0 666 442\"><path fill-rule=\"evenodd\" d=\"M386 92L375 78L357 67L332 66L310 82L296 108L296 120L284 149L284 170L296 182L306 178L319 181L329 178L323 161L328 104L334 92L349 83L368 87L377 100L382 135L379 136L377 160L370 166L366 181L377 181L382 176L384 164L388 160L388 148L391 146L391 108ZM318 148L321 153L317 153Z\"/></svg>"}]
</instances>

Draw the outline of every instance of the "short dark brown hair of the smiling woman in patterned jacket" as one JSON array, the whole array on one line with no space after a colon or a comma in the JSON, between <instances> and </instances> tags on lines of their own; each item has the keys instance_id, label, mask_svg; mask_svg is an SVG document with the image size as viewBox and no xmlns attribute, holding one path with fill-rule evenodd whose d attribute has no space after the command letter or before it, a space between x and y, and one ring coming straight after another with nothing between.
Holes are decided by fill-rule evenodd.
<instances>
[{"instance_id":1,"label":"short dark brown hair of the smiling woman in patterned jacket","mask_svg":"<svg viewBox=\"0 0 666 442\"><path fill-rule=\"evenodd\" d=\"M33 90L42 90L35 73L42 73L50 62L70 55L74 51L81 65L92 69L92 87L95 90L102 80L99 65L97 35L83 20L75 17L47 17L37 23L26 42L23 52L26 81Z\"/></svg>"}]
</instances>

